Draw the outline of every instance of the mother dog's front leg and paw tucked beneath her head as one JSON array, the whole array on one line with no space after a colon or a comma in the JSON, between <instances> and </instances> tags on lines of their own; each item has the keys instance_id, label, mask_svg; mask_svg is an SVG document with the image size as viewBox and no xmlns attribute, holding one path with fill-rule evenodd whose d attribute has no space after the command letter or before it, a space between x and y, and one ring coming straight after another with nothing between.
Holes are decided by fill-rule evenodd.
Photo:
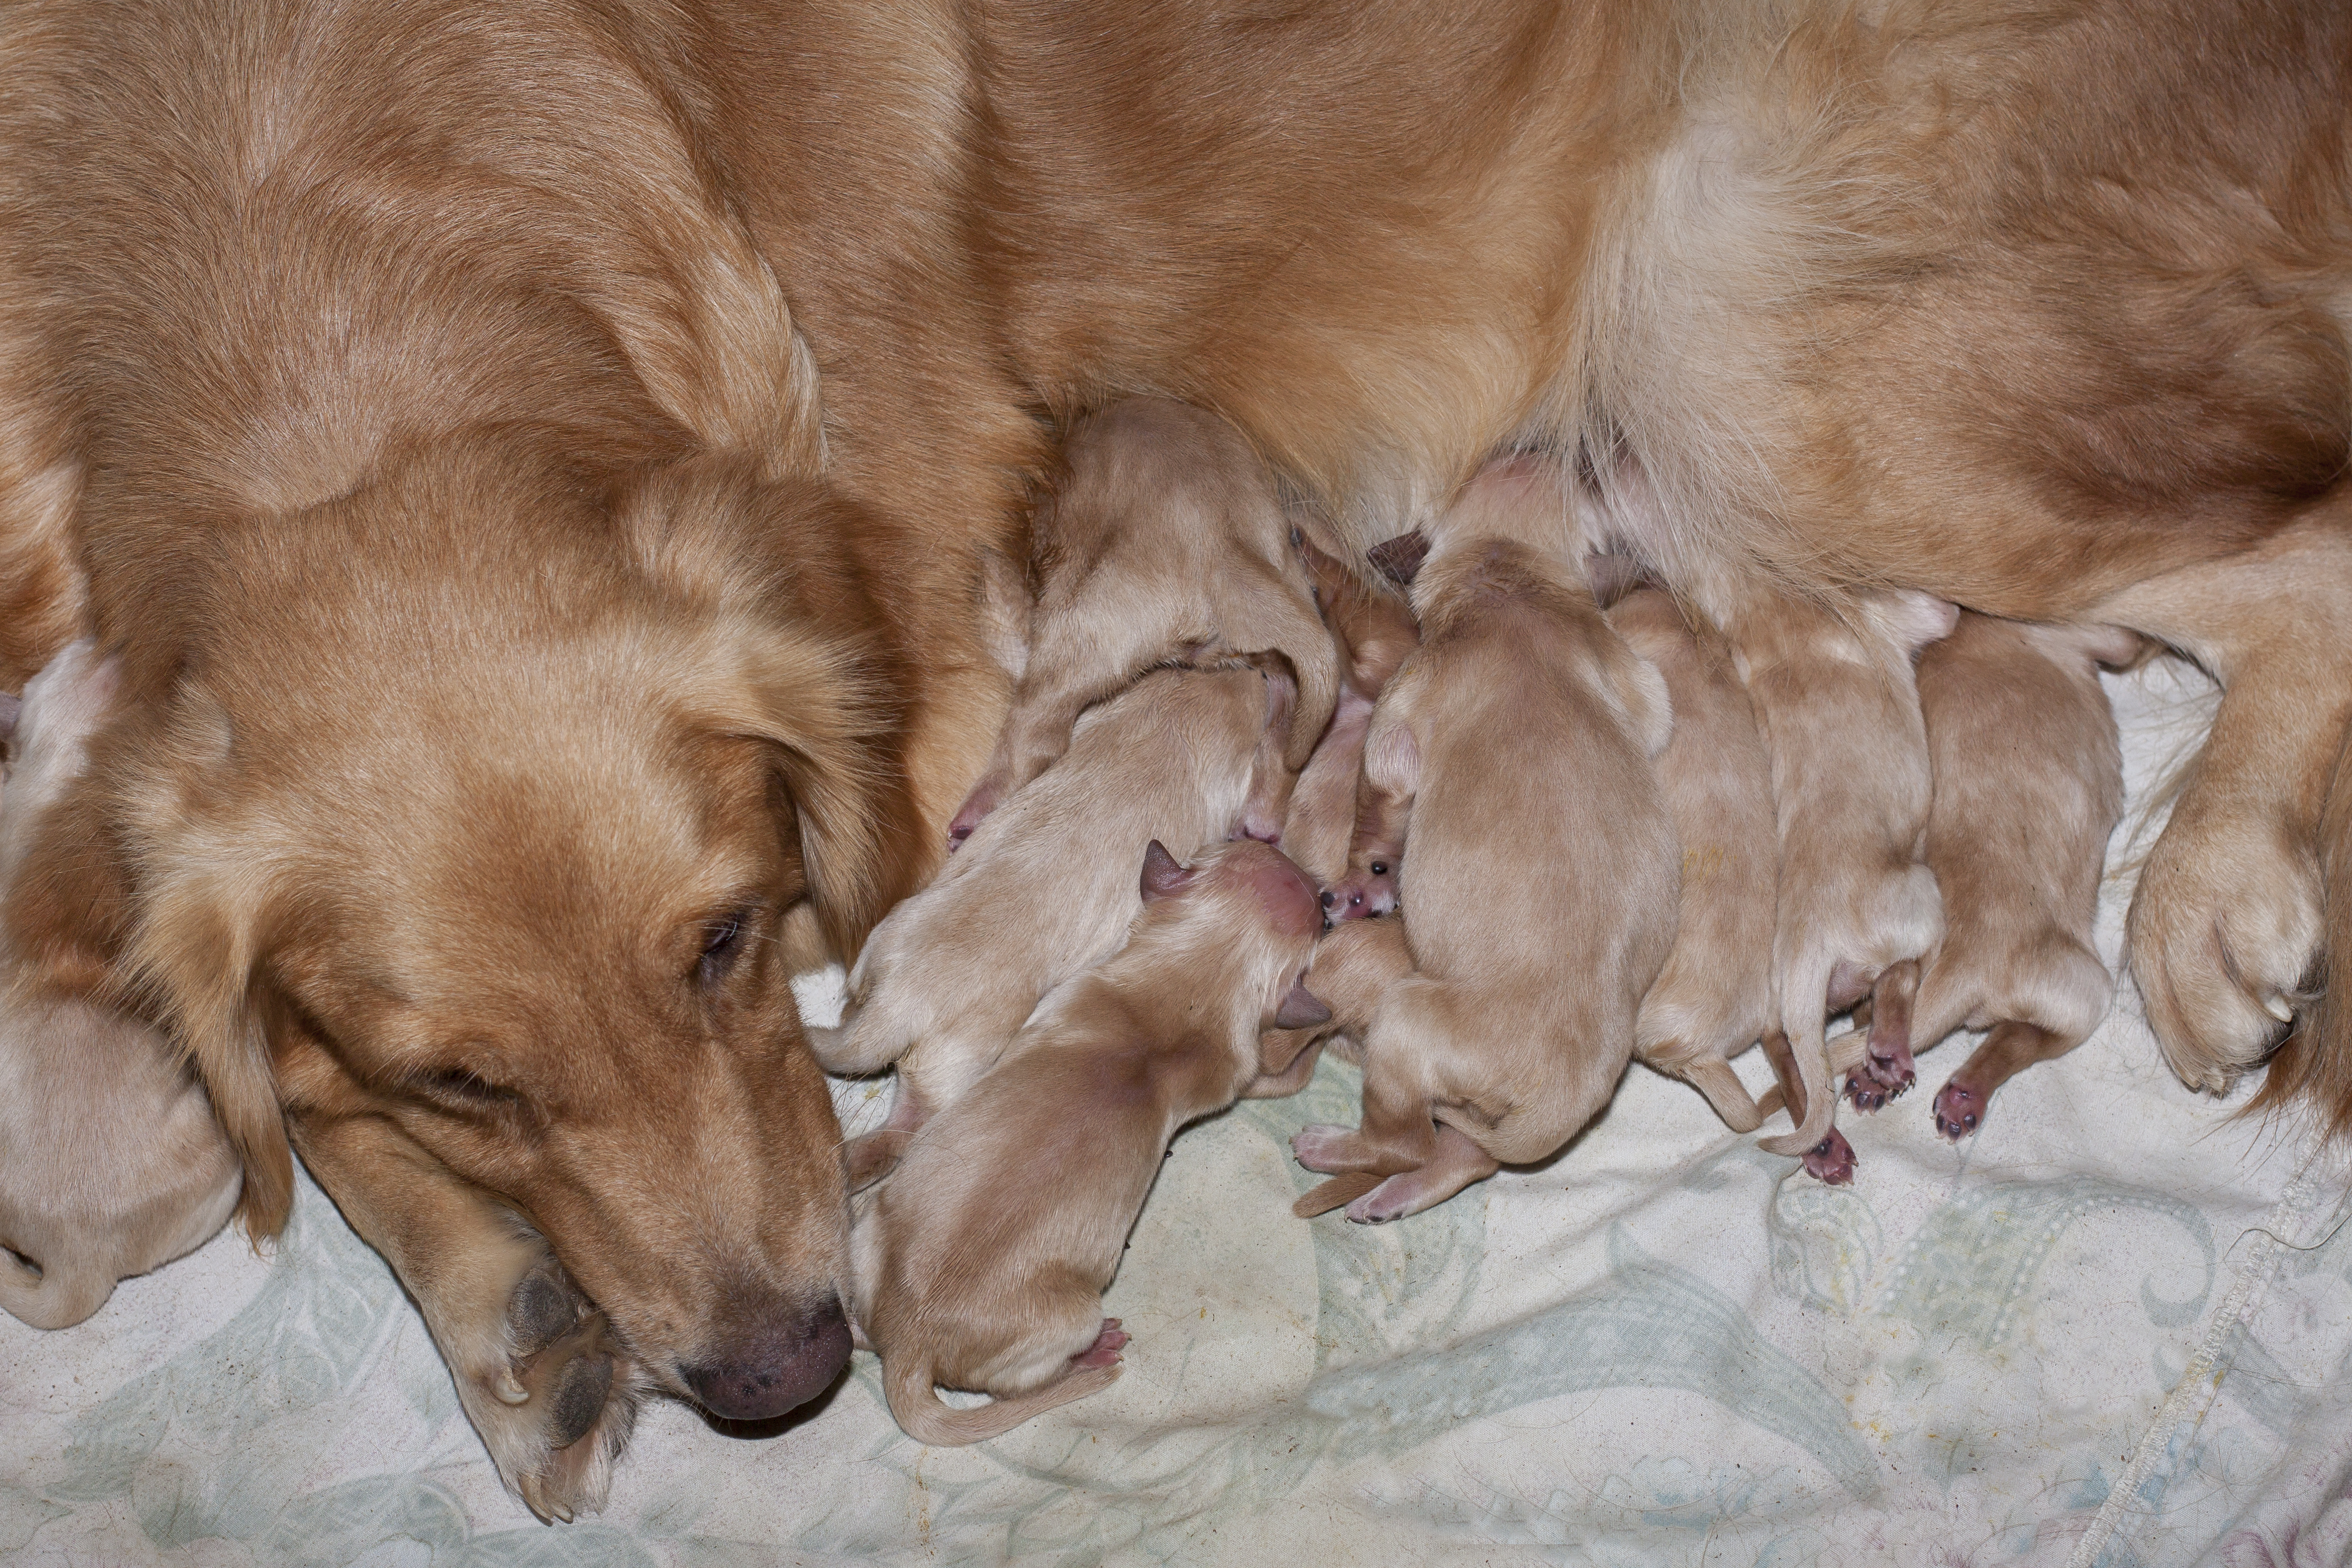
<instances>
[{"instance_id":1,"label":"mother dog's front leg and paw tucked beneath her head","mask_svg":"<svg viewBox=\"0 0 2352 1568\"><path fill-rule=\"evenodd\" d=\"M294 1147L383 1253L499 1479L541 1519L604 1507L642 1378L529 1225L381 1117L294 1117Z\"/></svg>"}]
</instances>

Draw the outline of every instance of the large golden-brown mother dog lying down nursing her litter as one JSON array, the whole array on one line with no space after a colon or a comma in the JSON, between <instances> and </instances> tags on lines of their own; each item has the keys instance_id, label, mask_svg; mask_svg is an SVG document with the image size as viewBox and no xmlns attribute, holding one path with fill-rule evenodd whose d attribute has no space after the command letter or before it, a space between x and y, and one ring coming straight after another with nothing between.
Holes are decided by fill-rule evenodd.
<instances>
[{"instance_id":1,"label":"large golden-brown mother dog lying down nursing her litter","mask_svg":"<svg viewBox=\"0 0 2352 1568\"><path fill-rule=\"evenodd\" d=\"M934 863L1004 701L974 583L1054 418L1148 390L1359 552L1545 447L1576 545L1719 618L1896 583L2192 654L2227 698L2131 938L2220 1088L2352 947L2347 40L19 2L0 679L87 616L134 701L12 933L179 1034L256 1234L292 1135L508 1481L590 1507L642 1392L774 1415L847 1354L786 973ZM2340 1128L2305 1013L2265 1093Z\"/></svg>"}]
</instances>

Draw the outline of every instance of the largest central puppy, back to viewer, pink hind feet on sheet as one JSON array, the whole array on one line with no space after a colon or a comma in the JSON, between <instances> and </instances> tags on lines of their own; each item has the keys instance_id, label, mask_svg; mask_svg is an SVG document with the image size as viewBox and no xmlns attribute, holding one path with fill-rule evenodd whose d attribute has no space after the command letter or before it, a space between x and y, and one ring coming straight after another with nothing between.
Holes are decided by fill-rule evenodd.
<instances>
[{"instance_id":1,"label":"largest central puppy, back to viewer, pink hind feet on sheet","mask_svg":"<svg viewBox=\"0 0 2352 1568\"><path fill-rule=\"evenodd\" d=\"M1430 529L1423 642L1374 712L1343 882L1392 875L1416 966L1364 1032L1362 1126L1291 1140L1352 1178L1303 1213L1345 1197L1350 1220L1395 1220L1564 1145L1623 1077L1672 947L1665 684L1581 574L1524 543L1559 505L1557 477L1515 458Z\"/></svg>"}]
</instances>

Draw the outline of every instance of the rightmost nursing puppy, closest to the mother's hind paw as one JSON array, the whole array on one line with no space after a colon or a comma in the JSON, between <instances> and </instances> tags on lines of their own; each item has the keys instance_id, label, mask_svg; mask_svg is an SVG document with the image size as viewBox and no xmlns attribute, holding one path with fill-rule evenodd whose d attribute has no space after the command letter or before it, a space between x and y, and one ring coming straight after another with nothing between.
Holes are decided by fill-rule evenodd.
<instances>
[{"instance_id":1,"label":"rightmost nursing puppy, closest to the mother's hind paw","mask_svg":"<svg viewBox=\"0 0 2352 1568\"><path fill-rule=\"evenodd\" d=\"M1919 656L1936 764L1926 863L1945 931L1924 959L1879 978L1867 1032L1837 1041L1863 1110L1910 1086L1912 1048L1992 1030L1936 1095L1936 1128L1966 1138L1994 1088L2105 1018L2114 980L2091 929L2124 757L2098 665L2126 665L2140 646L2117 628L1964 614Z\"/></svg>"}]
</instances>

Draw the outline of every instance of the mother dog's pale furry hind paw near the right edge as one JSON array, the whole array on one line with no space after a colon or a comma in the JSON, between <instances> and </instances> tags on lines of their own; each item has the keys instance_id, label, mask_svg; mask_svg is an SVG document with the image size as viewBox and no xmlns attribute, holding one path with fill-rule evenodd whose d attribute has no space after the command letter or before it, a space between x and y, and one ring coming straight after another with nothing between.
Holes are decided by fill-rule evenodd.
<instances>
[{"instance_id":1,"label":"mother dog's pale furry hind paw near the right edge","mask_svg":"<svg viewBox=\"0 0 2352 1568\"><path fill-rule=\"evenodd\" d=\"M2131 896L2131 978L2164 1060L2223 1093L2286 1034L2319 954L2319 863L2272 820L2173 811Z\"/></svg>"}]
</instances>

